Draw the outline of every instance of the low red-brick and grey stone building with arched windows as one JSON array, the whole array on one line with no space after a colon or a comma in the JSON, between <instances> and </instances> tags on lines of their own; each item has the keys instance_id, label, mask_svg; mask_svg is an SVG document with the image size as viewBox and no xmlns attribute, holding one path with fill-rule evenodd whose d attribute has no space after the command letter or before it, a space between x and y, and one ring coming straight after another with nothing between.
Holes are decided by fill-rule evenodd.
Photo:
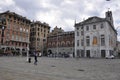
<instances>
[{"instance_id":1,"label":"low red-brick and grey stone building with arched windows","mask_svg":"<svg viewBox=\"0 0 120 80\"><path fill-rule=\"evenodd\" d=\"M48 56L74 57L74 31L64 32L57 26L47 37Z\"/></svg>"}]
</instances>

